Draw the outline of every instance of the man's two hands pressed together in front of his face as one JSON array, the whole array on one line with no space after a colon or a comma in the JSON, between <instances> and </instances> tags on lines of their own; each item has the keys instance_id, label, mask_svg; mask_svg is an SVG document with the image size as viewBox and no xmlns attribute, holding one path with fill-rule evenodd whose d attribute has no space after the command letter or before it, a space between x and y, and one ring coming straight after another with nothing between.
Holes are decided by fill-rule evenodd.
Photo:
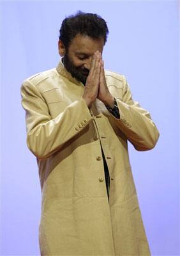
<instances>
[{"instance_id":1,"label":"man's two hands pressed together in front of his face","mask_svg":"<svg viewBox=\"0 0 180 256\"><path fill-rule=\"evenodd\" d=\"M114 105L114 98L110 94L105 80L103 60L99 51L96 51L93 55L82 98L86 101L88 107L91 106L96 98L110 107Z\"/></svg>"}]
</instances>

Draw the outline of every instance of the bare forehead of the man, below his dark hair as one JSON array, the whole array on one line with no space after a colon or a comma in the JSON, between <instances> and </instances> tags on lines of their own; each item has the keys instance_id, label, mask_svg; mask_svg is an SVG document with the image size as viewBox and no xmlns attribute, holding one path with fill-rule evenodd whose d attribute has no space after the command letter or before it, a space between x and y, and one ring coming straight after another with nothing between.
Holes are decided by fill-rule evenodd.
<instances>
[{"instance_id":1,"label":"bare forehead of the man, below his dark hair","mask_svg":"<svg viewBox=\"0 0 180 256\"><path fill-rule=\"evenodd\" d=\"M76 35L73 38L71 44L69 45L68 51L75 52L79 54L88 54L93 55L96 51L103 51L104 40L103 38L100 39L93 39L86 35Z\"/></svg>"}]
</instances>

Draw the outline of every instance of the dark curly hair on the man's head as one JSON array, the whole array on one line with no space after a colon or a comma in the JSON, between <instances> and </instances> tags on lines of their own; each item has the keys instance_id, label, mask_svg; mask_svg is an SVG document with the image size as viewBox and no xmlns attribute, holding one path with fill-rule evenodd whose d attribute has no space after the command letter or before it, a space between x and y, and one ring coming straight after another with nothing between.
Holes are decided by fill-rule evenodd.
<instances>
[{"instance_id":1,"label":"dark curly hair on the man's head","mask_svg":"<svg viewBox=\"0 0 180 256\"><path fill-rule=\"evenodd\" d=\"M63 20L59 29L59 40L63 42L66 49L77 34L93 39L103 38L105 44L108 33L107 24L99 15L78 11L75 15L70 15Z\"/></svg>"}]
</instances>

